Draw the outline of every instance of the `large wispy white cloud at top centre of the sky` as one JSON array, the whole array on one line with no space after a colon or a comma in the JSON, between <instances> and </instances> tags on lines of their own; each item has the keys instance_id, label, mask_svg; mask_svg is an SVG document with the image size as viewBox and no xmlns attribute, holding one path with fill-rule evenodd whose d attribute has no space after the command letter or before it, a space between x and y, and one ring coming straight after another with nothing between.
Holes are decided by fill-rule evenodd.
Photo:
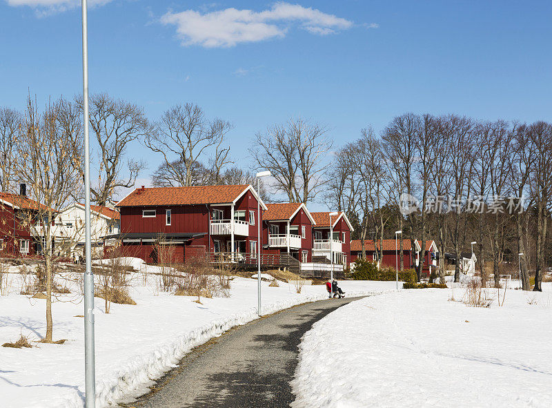
<instances>
[{"instance_id":1,"label":"large wispy white cloud at top centre of the sky","mask_svg":"<svg viewBox=\"0 0 552 408\"><path fill-rule=\"evenodd\" d=\"M255 12L226 8L213 12L167 12L161 23L174 25L185 46L233 47L238 43L284 37L293 23L317 35L351 28L346 19L298 4L279 2L269 10Z\"/></svg>"}]
</instances>

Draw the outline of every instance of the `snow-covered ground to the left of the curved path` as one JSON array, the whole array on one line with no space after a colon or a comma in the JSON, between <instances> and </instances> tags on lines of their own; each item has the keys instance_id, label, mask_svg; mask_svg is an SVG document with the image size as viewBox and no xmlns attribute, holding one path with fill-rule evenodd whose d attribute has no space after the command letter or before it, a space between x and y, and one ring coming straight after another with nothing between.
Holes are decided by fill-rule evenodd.
<instances>
[{"instance_id":1,"label":"snow-covered ground to the left of the curved path","mask_svg":"<svg viewBox=\"0 0 552 408\"><path fill-rule=\"evenodd\" d=\"M141 262L134 262L144 268ZM147 391L151 378L170 369L191 348L237 324L257 318L257 281L235 278L229 298L175 296L155 289L155 266L148 266L148 282L135 274L130 290L136 306L112 304L103 313L103 299L95 300L97 407ZM45 334L45 300L19 295L19 275L9 274L12 293L0 296L0 344L20 333L39 340ZM295 286L262 282L264 313L294 304L324 299L325 286ZM76 287L75 287L76 286ZM347 295L394 289L395 282L340 282ZM0 347L0 407L83 407L83 304L78 285L52 305L54 340L33 343L31 349Z\"/></svg>"}]
</instances>

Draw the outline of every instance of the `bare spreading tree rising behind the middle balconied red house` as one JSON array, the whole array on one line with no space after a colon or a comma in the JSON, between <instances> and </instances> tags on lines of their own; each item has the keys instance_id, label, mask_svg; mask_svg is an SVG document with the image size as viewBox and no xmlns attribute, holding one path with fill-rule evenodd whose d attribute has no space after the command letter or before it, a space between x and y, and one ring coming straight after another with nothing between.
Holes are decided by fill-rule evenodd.
<instances>
[{"instance_id":1,"label":"bare spreading tree rising behind the middle balconied red house","mask_svg":"<svg viewBox=\"0 0 552 408\"><path fill-rule=\"evenodd\" d=\"M289 202L310 202L327 182L326 155L333 146L327 132L310 120L292 118L257 133L250 155L257 167L272 173L276 190Z\"/></svg>"}]
</instances>

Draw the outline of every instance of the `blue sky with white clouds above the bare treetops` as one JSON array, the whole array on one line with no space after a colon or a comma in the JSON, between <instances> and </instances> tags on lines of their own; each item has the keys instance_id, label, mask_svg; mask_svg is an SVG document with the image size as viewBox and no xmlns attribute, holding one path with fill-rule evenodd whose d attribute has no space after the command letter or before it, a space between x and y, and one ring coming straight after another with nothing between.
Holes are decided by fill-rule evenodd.
<instances>
[{"instance_id":1,"label":"blue sky with white clouds above the bare treetops","mask_svg":"<svg viewBox=\"0 0 552 408\"><path fill-rule=\"evenodd\" d=\"M89 1L90 92L152 119L193 101L235 125L242 166L257 131L295 115L336 145L407 111L552 119L550 1ZM79 3L0 0L0 106L81 92ZM146 179L159 164L130 154Z\"/></svg>"}]
</instances>

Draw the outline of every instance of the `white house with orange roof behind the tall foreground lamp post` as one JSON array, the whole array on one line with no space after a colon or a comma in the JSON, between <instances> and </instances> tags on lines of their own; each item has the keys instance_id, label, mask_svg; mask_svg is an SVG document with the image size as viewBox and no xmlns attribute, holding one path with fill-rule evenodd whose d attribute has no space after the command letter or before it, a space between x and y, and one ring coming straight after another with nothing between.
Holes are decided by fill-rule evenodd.
<instances>
[{"instance_id":1,"label":"white house with orange roof behind the tall foreground lamp post","mask_svg":"<svg viewBox=\"0 0 552 408\"><path fill-rule=\"evenodd\" d=\"M115 208L91 205L90 221L92 257L99 257L103 255L103 238L120 232L121 215ZM53 233L60 251L71 258L84 256L84 204L75 202L59 213Z\"/></svg>"}]
</instances>

